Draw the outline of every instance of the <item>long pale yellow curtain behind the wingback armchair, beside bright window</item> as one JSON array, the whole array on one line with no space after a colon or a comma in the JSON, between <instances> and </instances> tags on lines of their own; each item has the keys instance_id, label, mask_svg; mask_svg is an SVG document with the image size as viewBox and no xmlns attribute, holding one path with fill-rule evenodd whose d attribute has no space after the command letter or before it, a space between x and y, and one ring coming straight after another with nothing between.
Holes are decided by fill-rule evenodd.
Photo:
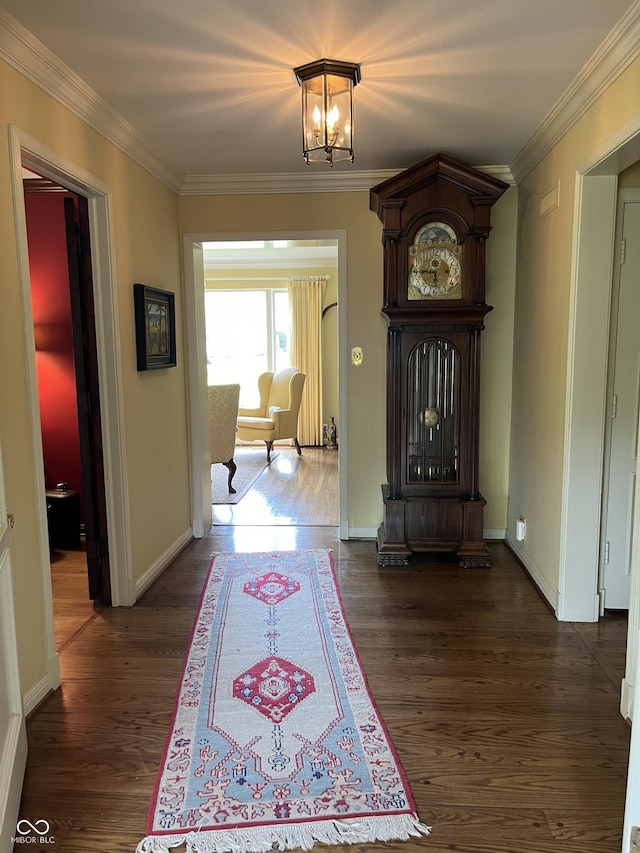
<instances>
[{"instance_id":1,"label":"long pale yellow curtain behind the wingback armchair, beside bright window","mask_svg":"<svg viewBox=\"0 0 640 853\"><path fill-rule=\"evenodd\" d=\"M307 377L304 383L298 439L322 445L322 296L324 278L289 279L291 366Z\"/></svg>"}]
</instances>

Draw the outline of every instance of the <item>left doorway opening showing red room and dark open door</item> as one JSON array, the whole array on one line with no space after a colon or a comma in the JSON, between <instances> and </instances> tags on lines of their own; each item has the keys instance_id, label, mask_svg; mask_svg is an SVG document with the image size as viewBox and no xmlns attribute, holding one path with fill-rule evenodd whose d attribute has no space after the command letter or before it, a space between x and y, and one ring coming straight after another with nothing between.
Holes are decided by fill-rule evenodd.
<instances>
[{"instance_id":1,"label":"left doorway opening showing red room and dark open door","mask_svg":"<svg viewBox=\"0 0 640 853\"><path fill-rule=\"evenodd\" d=\"M90 601L111 602L91 242L86 198L30 172L23 185L60 648Z\"/></svg>"}]
</instances>

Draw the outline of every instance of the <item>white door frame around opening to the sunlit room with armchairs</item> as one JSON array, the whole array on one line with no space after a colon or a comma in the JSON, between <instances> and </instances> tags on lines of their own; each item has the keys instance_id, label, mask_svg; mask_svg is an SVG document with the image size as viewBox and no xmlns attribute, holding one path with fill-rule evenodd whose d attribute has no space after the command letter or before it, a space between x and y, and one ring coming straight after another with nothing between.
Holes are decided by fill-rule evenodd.
<instances>
[{"instance_id":1,"label":"white door frame around opening to the sunlit room with armchairs","mask_svg":"<svg viewBox=\"0 0 640 853\"><path fill-rule=\"evenodd\" d=\"M204 318L203 243L231 240L336 240L338 243L338 417L347 436L347 232L256 231L199 232L183 236L185 319L189 363L189 428L191 434L192 527L202 538L211 527L211 459L207 403L207 357ZM346 438L338 442L340 538L349 538Z\"/></svg>"}]
</instances>

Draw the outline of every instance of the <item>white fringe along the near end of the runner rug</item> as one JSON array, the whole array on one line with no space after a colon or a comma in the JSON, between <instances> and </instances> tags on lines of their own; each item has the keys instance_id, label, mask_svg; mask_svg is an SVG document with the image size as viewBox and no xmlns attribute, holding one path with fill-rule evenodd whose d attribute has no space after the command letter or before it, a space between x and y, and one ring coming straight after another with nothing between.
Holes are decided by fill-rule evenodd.
<instances>
[{"instance_id":1,"label":"white fringe along the near end of the runner rug","mask_svg":"<svg viewBox=\"0 0 640 853\"><path fill-rule=\"evenodd\" d=\"M251 826L233 830L204 830L184 835L149 835L136 853L170 853L186 844L186 853L271 853L310 850L314 844L367 844L406 841L429 835L430 826L414 815L385 815L285 825Z\"/></svg>"}]
</instances>

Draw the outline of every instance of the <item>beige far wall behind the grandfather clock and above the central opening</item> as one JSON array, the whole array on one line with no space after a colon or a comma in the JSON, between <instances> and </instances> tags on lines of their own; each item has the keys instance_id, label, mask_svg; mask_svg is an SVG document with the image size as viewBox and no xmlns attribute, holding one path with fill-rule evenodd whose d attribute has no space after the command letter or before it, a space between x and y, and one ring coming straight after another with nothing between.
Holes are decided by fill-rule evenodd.
<instances>
[{"instance_id":1,"label":"beige far wall behind the grandfather clock and above the central opening","mask_svg":"<svg viewBox=\"0 0 640 853\"><path fill-rule=\"evenodd\" d=\"M487 498L485 528L506 526L508 435L515 253L516 191L495 208L488 243L487 317L483 343L481 488ZM385 482L386 326L382 307L382 225L369 210L368 192L184 196L183 233L347 232L347 353L362 347L360 367L347 365L347 443L350 529L375 531L382 520Z\"/></svg>"}]
</instances>

